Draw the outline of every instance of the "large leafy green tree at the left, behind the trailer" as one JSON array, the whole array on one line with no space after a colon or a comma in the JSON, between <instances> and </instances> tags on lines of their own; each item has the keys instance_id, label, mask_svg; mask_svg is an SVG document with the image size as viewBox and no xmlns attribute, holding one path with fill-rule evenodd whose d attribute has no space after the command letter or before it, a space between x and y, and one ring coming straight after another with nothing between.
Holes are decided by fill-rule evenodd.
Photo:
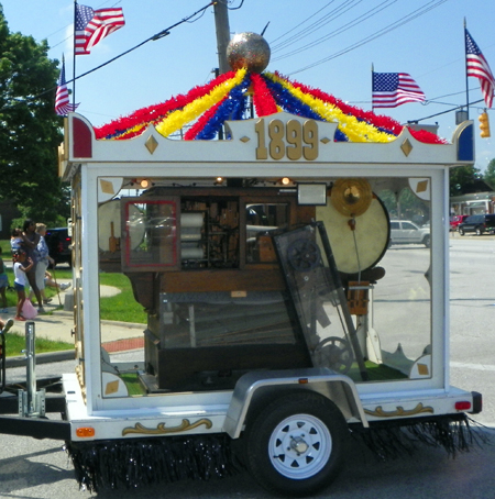
<instances>
[{"instance_id":1,"label":"large leafy green tree at the left, behind the trailer","mask_svg":"<svg viewBox=\"0 0 495 499\"><path fill-rule=\"evenodd\" d=\"M58 62L47 52L46 41L10 33L0 4L0 198L16 202L24 218L54 223L69 208L57 171Z\"/></svg>"}]
</instances>

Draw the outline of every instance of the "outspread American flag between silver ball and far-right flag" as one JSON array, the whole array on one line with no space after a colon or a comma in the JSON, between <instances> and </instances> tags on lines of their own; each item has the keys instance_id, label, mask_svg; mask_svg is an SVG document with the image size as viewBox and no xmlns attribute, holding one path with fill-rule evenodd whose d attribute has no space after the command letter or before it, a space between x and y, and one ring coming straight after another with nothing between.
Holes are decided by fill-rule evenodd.
<instances>
[{"instance_id":1,"label":"outspread American flag between silver ball and far-right flag","mask_svg":"<svg viewBox=\"0 0 495 499\"><path fill-rule=\"evenodd\" d=\"M425 93L407 73L373 73L373 108L425 102Z\"/></svg>"}]
</instances>

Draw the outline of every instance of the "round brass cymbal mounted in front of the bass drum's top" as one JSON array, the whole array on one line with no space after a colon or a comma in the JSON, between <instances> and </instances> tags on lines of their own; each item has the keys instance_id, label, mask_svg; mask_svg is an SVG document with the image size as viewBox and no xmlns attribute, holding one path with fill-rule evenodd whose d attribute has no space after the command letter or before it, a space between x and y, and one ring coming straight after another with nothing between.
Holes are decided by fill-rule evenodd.
<instances>
[{"instance_id":1,"label":"round brass cymbal mounted in front of the bass drum's top","mask_svg":"<svg viewBox=\"0 0 495 499\"><path fill-rule=\"evenodd\" d=\"M345 217L363 214L370 208L372 199L372 188L364 178L339 178L330 193L333 208Z\"/></svg>"}]
</instances>

